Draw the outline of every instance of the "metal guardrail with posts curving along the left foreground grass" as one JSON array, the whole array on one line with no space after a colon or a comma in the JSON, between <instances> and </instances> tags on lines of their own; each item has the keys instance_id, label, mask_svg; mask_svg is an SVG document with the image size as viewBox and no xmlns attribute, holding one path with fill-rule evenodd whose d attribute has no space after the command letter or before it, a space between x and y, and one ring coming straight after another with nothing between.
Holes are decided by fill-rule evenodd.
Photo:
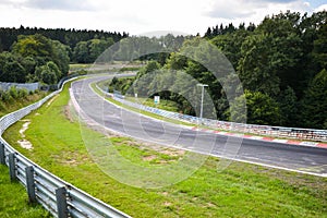
<instances>
[{"instance_id":1,"label":"metal guardrail with posts curving along the left foreground grass","mask_svg":"<svg viewBox=\"0 0 327 218\"><path fill-rule=\"evenodd\" d=\"M61 90L62 87L38 102L2 117L0 135ZM11 180L19 180L26 187L31 203L40 203L55 217L130 217L37 166L1 136L0 164L9 167Z\"/></svg>"}]
</instances>

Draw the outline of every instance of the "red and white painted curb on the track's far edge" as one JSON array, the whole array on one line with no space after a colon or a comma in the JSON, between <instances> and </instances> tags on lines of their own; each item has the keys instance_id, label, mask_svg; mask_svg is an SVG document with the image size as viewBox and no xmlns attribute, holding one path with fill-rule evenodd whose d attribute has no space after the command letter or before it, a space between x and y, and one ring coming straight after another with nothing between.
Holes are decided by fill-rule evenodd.
<instances>
[{"instance_id":1,"label":"red and white painted curb on the track's far edge","mask_svg":"<svg viewBox=\"0 0 327 218\"><path fill-rule=\"evenodd\" d=\"M282 143L282 144L289 144L289 145L302 145L302 146L310 146L310 147L327 148L327 144L325 144L325 143L301 142L301 141L294 141L294 140L274 138L274 137L269 137L269 136L245 135L245 134L240 134L240 133L231 133L231 132L202 129L202 128L197 128L197 126L191 128L191 130L198 131L198 132L206 132L206 133L215 133L215 134L218 134L218 135L227 135L227 136L257 140L257 141L264 141L264 142L272 142L272 143Z\"/></svg>"}]
</instances>

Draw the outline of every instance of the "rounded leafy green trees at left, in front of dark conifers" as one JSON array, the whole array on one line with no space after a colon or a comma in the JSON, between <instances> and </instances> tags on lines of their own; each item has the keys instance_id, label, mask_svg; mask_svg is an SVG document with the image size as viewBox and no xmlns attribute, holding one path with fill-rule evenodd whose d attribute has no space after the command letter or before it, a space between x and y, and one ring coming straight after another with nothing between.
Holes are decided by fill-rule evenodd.
<instances>
[{"instance_id":1,"label":"rounded leafy green trees at left, in front of dark conifers","mask_svg":"<svg viewBox=\"0 0 327 218\"><path fill-rule=\"evenodd\" d=\"M57 84L69 72L69 47L40 34L21 35L0 53L1 82Z\"/></svg>"}]
</instances>

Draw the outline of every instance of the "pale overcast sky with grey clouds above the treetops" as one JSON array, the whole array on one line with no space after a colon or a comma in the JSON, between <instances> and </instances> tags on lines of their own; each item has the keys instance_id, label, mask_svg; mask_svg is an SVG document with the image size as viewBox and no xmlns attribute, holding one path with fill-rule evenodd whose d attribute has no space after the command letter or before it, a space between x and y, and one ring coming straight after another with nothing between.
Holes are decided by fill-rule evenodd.
<instances>
[{"instance_id":1,"label":"pale overcast sky with grey clouds above the treetops","mask_svg":"<svg viewBox=\"0 0 327 218\"><path fill-rule=\"evenodd\" d=\"M324 9L327 0L0 0L0 26L203 35L220 23L258 24L280 11Z\"/></svg>"}]
</instances>

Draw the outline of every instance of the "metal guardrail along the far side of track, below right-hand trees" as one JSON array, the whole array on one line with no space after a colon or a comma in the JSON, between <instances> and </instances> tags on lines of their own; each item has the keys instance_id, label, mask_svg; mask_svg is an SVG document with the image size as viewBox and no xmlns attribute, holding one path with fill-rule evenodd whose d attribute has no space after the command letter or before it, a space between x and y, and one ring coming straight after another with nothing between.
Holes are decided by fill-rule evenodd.
<instances>
[{"instance_id":1,"label":"metal guardrail along the far side of track, below right-hand trees","mask_svg":"<svg viewBox=\"0 0 327 218\"><path fill-rule=\"evenodd\" d=\"M100 89L98 86L97 88ZM300 141L308 140L308 141L317 141L317 142L327 142L327 130L256 125L256 124L233 123L233 122L226 122L226 121L210 120L210 119L199 120L199 118L197 117L181 114L181 113L161 110L153 107L147 107L137 102L125 100L124 98L121 97L119 98L114 97L113 94L106 93L102 89L100 90L107 96L114 98L114 100L118 100L124 105L136 108L138 110L153 112L166 118L177 119L184 122L191 122L194 124L202 123L202 125L209 126L213 129L234 131L241 133L251 133L251 134L258 134L258 135L267 135L272 137L288 137L288 138L300 140Z\"/></svg>"}]
</instances>

